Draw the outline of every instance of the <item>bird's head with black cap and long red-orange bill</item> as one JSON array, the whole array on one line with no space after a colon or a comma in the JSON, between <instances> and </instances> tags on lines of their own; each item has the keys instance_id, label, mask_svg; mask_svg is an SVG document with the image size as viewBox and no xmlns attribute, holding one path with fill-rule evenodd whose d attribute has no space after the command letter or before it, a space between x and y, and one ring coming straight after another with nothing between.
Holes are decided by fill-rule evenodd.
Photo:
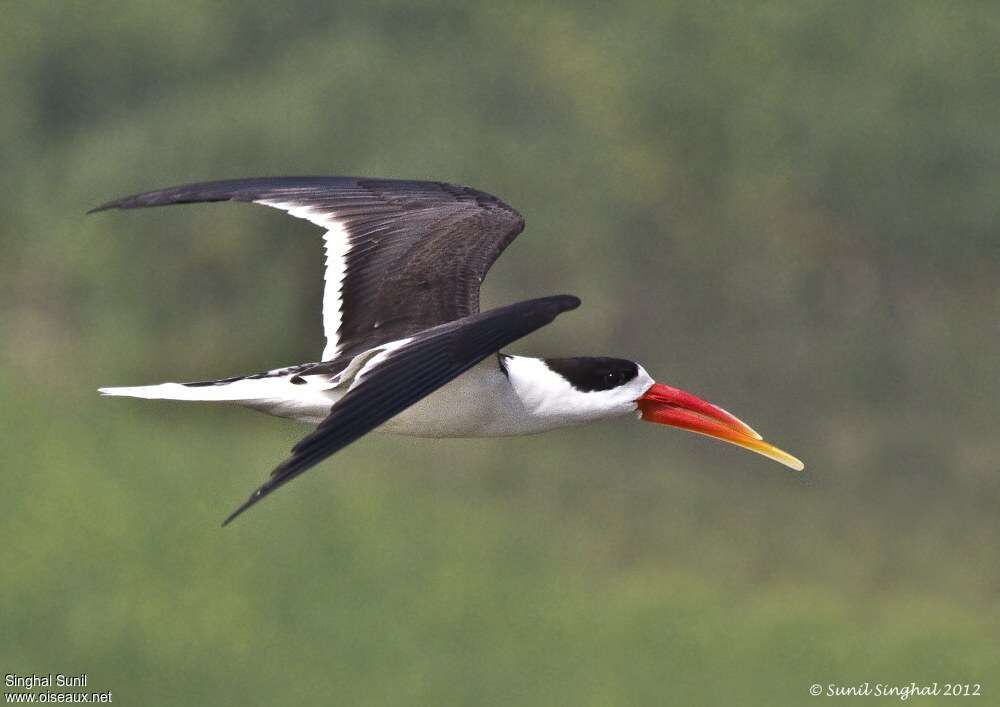
<instances>
[{"instance_id":1,"label":"bird's head with black cap and long red-orange bill","mask_svg":"<svg viewBox=\"0 0 1000 707\"><path fill-rule=\"evenodd\" d=\"M586 357L550 358L544 362L548 369L572 386L574 406L603 408L606 414L636 412L647 422L721 439L797 471L804 468L801 461L765 442L736 416L696 395L656 383L633 361Z\"/></svg>"}]
</instances>

